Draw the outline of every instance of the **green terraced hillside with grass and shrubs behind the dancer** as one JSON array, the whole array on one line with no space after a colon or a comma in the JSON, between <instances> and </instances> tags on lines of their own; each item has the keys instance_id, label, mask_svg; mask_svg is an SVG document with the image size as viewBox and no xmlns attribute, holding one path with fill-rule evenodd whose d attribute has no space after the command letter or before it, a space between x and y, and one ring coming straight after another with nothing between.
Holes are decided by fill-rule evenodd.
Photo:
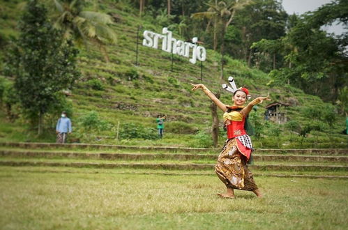
<instances>
[{"instance_id":1,"label":"green terraced hillside with grass and shrubs behind the dancer","mask_svg":"<svg viewBox=\"0 0 348 230\"><path fill-rule=\"evenodd\" d=\"M0 0L0 57L12 36L17 36L23 1ZM138 17L137 10L122 1L98 1L90 8L113 15L112 29L116 45L108 45L109 63L97 47L79 47L78 67L82 76L75 89L66 93L65 109L73 121L70 141L100 144L170 145L210 147L210 101L202 91L192 93L190 83L201 82L201 63L195 65L181 56L161 49L142 46L142 32L161 33L162 25L151 17ZM137 46L137 30L139 41ZM174 38L181 39L178 34ZM136 49L139 49L138 65ZM234 76L237 86L249 89L252 98L271 95L272 102L287 103L288 123L278 125L264 121L264 107L250 117L257 130L252 137L256 148L347 148L348 137L342 135L345 118L336 108L315 95L307 95L290 85L273 86L271 77L243 61L227 57L224 79L220 79L218 52L207 49L202 63L202 83L211 91L221 91L221 84ZM0 71L3 66L0 65ZM0 72L1 74L1 72ZM3 86L11 84L9 76L0 76ZM3 90L1 91L3 93ZM221 100L232 104L231 94L221 91ZM3 95L4 96L4 95ZM3 98L3 97L2 97ZM45 117L45 135L37 137L35 129L20 115L20 107L8 108L2 102L0 141L55 141L54 127L59 113ZM157 139L155 118L166 114L165 137ZM220 116L220 146L225 140ZM302 133L302 135L300 135Z\"/></svg>"}]
</instances>

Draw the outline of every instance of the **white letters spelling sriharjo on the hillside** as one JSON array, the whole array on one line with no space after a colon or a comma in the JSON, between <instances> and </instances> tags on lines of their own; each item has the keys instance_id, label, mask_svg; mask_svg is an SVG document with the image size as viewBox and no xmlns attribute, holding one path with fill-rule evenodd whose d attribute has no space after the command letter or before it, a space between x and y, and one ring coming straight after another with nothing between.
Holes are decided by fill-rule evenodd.
<instances>
[{"instance_id":1,"label":"white letters spelling sriharjo on the hillside","mask_svg":"<svg viewBox=\"0 0 348 230\"><path fill-rule=\"evenodd\" d=\"M142 45L158 49L158 42L162 40L162 50L168 53L178 54L181 56L190 57L190 63L195 64L199 61L206 61L206 49L202 46L193 44L197 43L197 38L192 38L192 43L176 40L172 37L172 31L167 27L162 29L162 34L151 31L144 31L144 40Z\"/></svg>"}]
</instances>

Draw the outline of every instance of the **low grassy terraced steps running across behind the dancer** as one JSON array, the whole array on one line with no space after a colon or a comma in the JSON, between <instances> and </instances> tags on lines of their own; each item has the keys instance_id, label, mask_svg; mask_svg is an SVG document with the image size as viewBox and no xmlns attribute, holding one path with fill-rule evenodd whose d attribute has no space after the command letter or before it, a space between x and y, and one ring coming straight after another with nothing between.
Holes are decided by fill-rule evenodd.
<instances>
[{"instance_id":1,"label":"low grassy terraced steps running across behind the dancer","mask_svg":"<svg viewBox=\"0 0 348 230\"><path fill-rule=\"evenodd\" d=\"M104 144L0 143L1 167L86 168L211 174L220 148ZM258 176L348 178L348 149L257 149Z\"/></svg>"}]
</instances>

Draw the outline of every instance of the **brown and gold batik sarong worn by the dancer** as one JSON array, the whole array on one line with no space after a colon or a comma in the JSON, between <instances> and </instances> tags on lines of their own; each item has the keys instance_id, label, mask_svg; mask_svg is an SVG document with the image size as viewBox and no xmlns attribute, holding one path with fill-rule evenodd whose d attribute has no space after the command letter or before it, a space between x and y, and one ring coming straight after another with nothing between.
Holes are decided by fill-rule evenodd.
<instances>
[{"instance_id":1,"label":"brown and gold batik sarong worn by the dancer","mask_svg":"<svg viewBox=\"0 0 348 230\"><path fill-rule=\"evenodd\" d=\"M226 141L218 157L215 173L229 188L237 190L257 190L252 172L246 164L246 157L239 152L236 139Z\"/></svg>"}]
</instances>

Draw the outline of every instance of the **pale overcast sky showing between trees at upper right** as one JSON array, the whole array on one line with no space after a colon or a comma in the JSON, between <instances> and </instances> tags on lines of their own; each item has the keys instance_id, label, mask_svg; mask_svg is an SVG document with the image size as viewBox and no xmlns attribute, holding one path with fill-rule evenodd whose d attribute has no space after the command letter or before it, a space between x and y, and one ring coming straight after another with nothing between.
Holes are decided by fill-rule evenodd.
<instances>
[{"instance_id":1,"label":"pale overcast sky showing between trees at upper right","mask_svg":"<svg viewBox=\"0 0 348 230\"><path fill-rule=\"evenodd\" d=\"M331 0L282 0L282 7L288 15L292 15L293 13L301 15L307 11L315 11L320 6L330 2ZM335 24L325 26L322 29L325 29L329 33L335 33L336 35L340 35L345 31L341 25L337 26Z\"/></svg>"}]
</instances>

